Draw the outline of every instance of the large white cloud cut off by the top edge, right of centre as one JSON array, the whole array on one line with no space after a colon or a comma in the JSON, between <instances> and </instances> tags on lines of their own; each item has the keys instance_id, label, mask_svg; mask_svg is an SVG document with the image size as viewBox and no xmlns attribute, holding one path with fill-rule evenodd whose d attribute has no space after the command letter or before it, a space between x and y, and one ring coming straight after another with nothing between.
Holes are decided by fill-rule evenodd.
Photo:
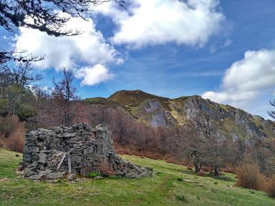
<instances>
[{"instance_id":1,"label":"large white cloud cut off by the top edge, right of centre","mask_svg":"<svg viewBox=\"0 0 275 206\"><path fill-rule=\"evenodd\" d=\"M118 26L115 44L134 47L175 42L203 46L221 30L225 16L218 0L131 0L127 10L105 4L96 12L111 16Z\"/></svg>"}]
</instances>

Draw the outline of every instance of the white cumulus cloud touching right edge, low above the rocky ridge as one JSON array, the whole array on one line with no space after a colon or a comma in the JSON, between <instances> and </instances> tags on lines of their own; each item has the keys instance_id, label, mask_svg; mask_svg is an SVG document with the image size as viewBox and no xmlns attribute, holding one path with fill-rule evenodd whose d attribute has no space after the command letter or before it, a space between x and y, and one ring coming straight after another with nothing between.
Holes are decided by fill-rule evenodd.
<instances>
[{"instance_id":1,"label":"white cumulus cloud touching right edge, low above the rocky ridge","mask_svg":"<svg viewBox=\"0 0 275 206\"><path fill-rule=\"evenodd\" d=\"M206 91L203 98L241 105L275 87L275 50L245 52L244 58L226 69L221 91Z\"/></svg>"}]
</instances>

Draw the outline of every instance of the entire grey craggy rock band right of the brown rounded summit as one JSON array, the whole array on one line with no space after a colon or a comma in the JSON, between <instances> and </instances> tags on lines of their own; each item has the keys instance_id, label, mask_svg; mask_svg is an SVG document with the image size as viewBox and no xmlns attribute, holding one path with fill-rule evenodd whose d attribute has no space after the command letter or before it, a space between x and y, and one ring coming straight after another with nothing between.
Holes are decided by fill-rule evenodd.
<instances>
[{"instance_id":1,"label":"entire grey craggy rock band right of the brown rounded summit","mask_svg":"<svg viewBox=\"0 0 275 206\"><path fill-rule=\"evenodd\" d=\"M205 100L198 95L181 97L166 102L145 100L131 111L137 119L142 119L151 126L177 126L207 114L211 121L221 126L221 138L234 141L245 140L252 143L256 139L275 137L275 122L229 105Z\"/></svg>"}]
</instances>

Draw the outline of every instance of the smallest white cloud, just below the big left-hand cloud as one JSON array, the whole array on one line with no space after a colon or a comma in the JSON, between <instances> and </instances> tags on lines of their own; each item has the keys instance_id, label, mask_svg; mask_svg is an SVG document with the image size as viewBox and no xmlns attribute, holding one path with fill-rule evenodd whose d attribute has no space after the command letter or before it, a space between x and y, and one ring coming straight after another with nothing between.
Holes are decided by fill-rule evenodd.
<instances>
[{"instance_id":1,"label":"smallest white cloud, just below the big left-hand cloud","mask_svg":"<svg viewBox=\"0 0 275 206\"><path fill-rule=\"evenodd\" d=\"M76 78L83 79L81 85L93 86L100 82L106 82L115 77L113 73L104 65L94 65L94 67L83 67L76 71Z\"/></svg>"}]
</instances>

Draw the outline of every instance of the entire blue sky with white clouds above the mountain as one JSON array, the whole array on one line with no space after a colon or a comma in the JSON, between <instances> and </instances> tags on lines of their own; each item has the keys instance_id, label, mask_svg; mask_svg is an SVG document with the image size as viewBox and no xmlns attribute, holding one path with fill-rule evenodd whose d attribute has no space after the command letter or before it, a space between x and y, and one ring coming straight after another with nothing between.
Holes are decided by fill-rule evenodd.
<instances>
[{"instance_id":1,"label":"entire blue sky with white clouds above the mountain","mask_svg":"<svg viewBox=\"0 0 275 206\"><path fill-rule=\"evenodd\" d=\"M140 89L168 98L201 95L269 118L275 98L274 0L126 0L104 3L53 37L0 30L2 46L45 56L34 67L51 88L72 69L81 98ZM61 14L66 15L66 14Z\"/></svg>"}]
</instances>

